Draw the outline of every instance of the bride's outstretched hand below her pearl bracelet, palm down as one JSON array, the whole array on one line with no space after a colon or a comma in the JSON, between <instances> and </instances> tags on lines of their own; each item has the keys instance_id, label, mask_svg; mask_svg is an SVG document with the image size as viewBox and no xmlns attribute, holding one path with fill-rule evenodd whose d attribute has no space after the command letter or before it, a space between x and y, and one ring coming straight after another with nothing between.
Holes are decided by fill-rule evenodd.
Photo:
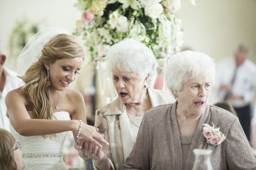
<instances>
[{"instance_id":1,"label":"bride's outstretched hand below her pearl bracelet, palm down","mask_svg":"<svg viewBox=\"0 0 256 170\"><path fill-rule=\"evenodd\" d=\"M80 125L80 122L79 122L79 125ZM82 123L81 128L82 129L81 129L79 137L84 138L85 140L94 143L98 147L102 147L103 144L109 145L109 143L103 138L103 136L101 134L98 134L98 132L94 126L90 126L85 123ZM77 133L77 131L75 133Z\"/></svg>"}]
</instances>

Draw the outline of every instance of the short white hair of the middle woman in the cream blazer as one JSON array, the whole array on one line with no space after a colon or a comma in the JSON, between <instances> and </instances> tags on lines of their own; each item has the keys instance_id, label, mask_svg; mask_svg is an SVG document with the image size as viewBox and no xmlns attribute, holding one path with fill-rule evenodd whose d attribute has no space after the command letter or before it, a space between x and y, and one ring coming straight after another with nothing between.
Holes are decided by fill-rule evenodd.
<instances>
[{"instance_id":1,"label":"short white hair of the middle woman in the cream blazer","mask_svg":"<svg viewBox=\"0 0 256 170\"><path fill-rule=\"evenodd\" d=\"M155 83L157 68L158 62L153 52L145 44L130 38L111 46L106 55L106 70L110 77L113 70L138 73L143 79L149 74L149 87Z\"/></svg>"}]
</instances>

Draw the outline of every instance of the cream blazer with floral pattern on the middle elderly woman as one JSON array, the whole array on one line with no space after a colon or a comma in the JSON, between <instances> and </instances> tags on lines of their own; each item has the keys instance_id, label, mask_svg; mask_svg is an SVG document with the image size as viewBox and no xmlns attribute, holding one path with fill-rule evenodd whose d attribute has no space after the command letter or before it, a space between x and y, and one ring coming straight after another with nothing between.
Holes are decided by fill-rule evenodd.
<instances>
[{"instance_id":1,"label":"cream blazer with floral pattern on the middle elderly woman","mask_svg":"<svg viewBox=\"0 0 256 170\"><path fill-rule=\"evenodd\" d=\"M148 93L152 108L175 102L169 92L149 88ZM104 134L105 140L110 143L110 146L103 146L102 151L110 160L112 169L121 170L134 143L125 105L119 97L96 111L95 127L101 134ZM94 160L92 164L96 170Z\"/></svg>"}]
</instances>

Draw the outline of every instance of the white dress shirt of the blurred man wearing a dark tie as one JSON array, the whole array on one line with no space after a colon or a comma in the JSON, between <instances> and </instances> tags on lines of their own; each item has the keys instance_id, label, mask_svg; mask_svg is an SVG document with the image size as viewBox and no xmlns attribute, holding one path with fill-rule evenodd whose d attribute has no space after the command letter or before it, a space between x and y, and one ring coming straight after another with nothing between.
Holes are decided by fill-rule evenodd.
<instances>
[{"instance_id":1,"label":"white dress shirt of the blurred man wearing a dark tie","mask_svg":"<svg viewBox=\"0 0 256 170\"><path fill-rule=\"evenodd\" d=\"M222 84L230 84L234 76L236 68L235 58L227 58L217 64L215 88ZM237 68L234 83L232 85L231 93L240 95L243 100L229 100L234 107L244 107L250 104L255 98L256 89L256 65L250 60L245 62ZM224 100L226 95L225 90L219 90L220 100Z\"/></svg>"}]
</instances>

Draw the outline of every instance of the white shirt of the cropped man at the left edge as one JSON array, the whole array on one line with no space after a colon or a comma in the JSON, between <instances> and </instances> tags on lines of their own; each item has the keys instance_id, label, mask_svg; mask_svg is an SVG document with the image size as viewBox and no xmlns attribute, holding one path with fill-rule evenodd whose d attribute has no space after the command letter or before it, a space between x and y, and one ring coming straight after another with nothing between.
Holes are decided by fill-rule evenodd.
<instances>
[{"instance_id":1,"label":"white shirt of the cropped man at the left edge","mask_svg":"<svg viewBox=\"0 0 256 170\"><path fill-rule=\"evenodd\" d=\"M5 85L3 91L0 91L0 128L10 131L9 118L6 117L5 96L9 91L20 87L23 81L17 77L17 73L6 67L4 67L3 72Z\"/></svg>"}]
</instances>

